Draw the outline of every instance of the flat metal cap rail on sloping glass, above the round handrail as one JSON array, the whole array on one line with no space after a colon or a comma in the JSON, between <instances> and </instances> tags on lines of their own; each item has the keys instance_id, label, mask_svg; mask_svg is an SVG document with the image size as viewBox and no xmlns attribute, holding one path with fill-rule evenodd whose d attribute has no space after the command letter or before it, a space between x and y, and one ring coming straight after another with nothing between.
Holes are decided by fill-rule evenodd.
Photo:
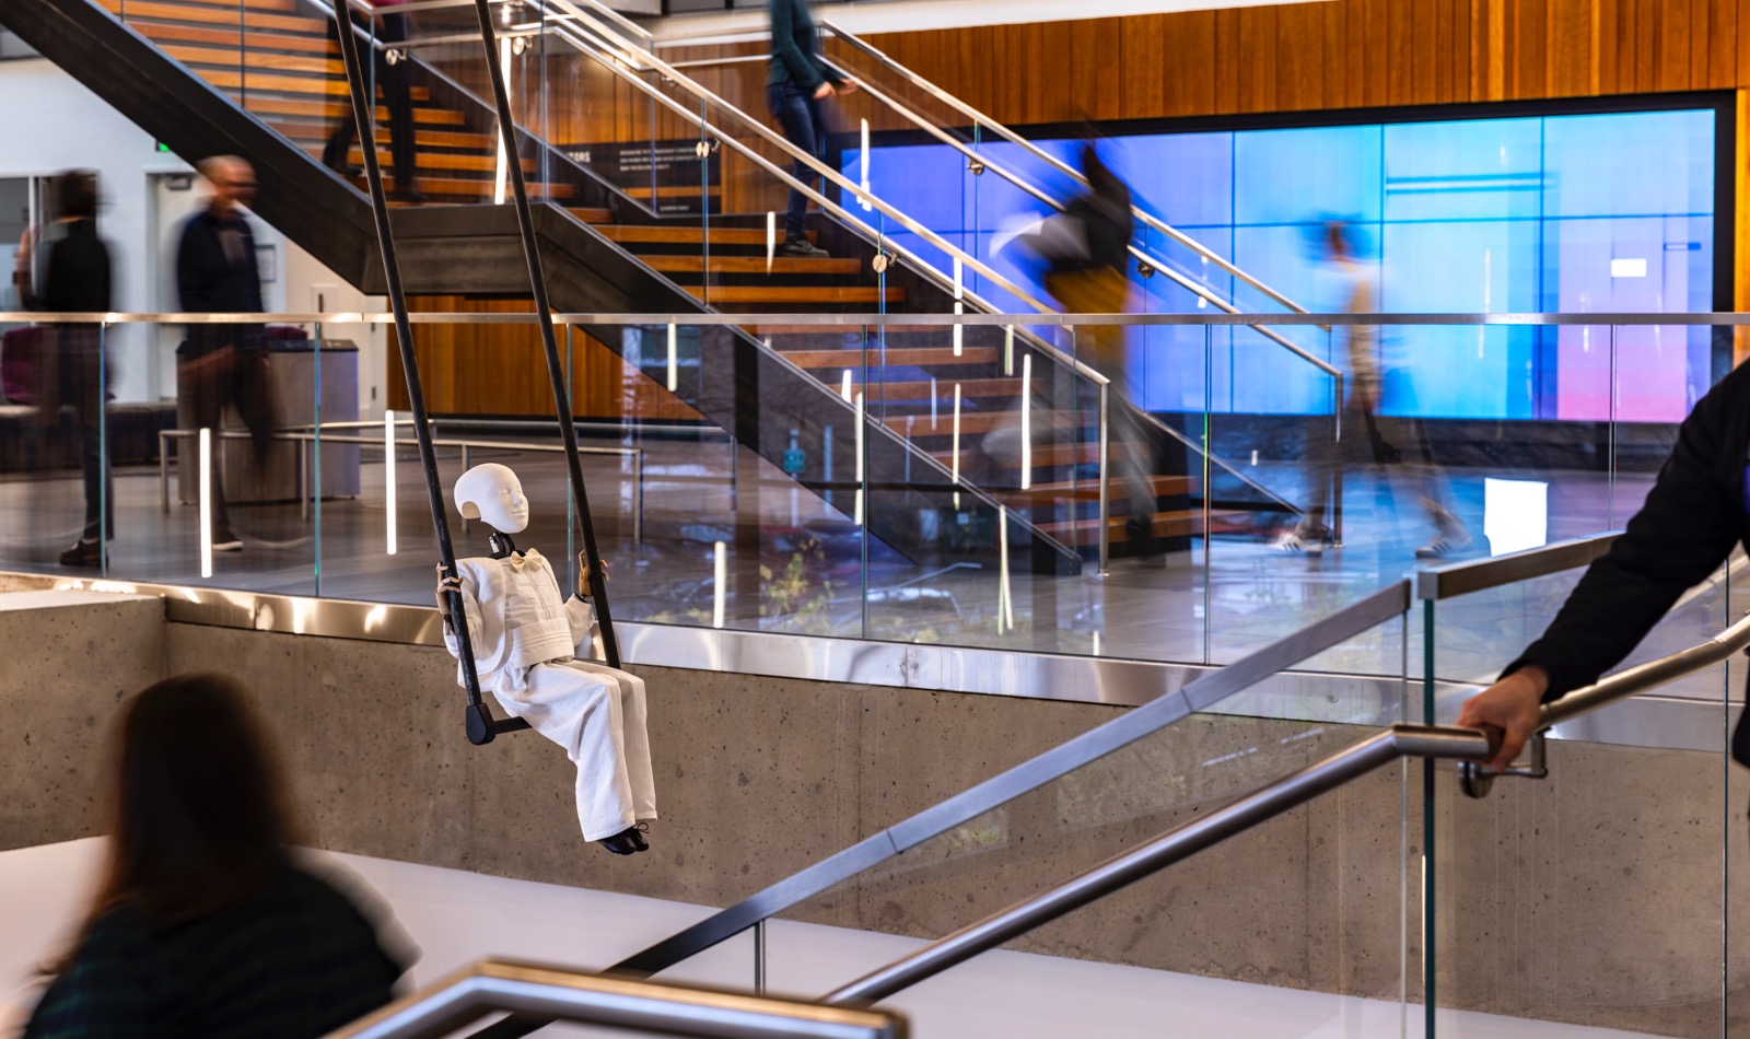
<instances>
[{"instance_id":1,"label":"flat metal cap rail on sloping glass, above the round handrail","mask_svg":"<svg viewBox=\"0 0 1750 1039\"><path fill-rule=\"evenodd\" d=\"M704 952L719 941L747 931L760 920L782 913L822 890L844 883L880 862L900 855L992 808L1054 782L1113 750L1150 736L1162 728L1222 700L1250 689L1270 675L1318 652L1342 644L1391 617L1404 616L1410 603L1407 581L1391 584L1316 621L1286 638L1279 638L1250 656L1186 682L1124 715L1074 736L1045 754L1024 761L940 805L864 838L842 852L808 866L765 890L721 910L684 931L621 960L618 971L653 974Z\"/></svg>"}]
</instances>

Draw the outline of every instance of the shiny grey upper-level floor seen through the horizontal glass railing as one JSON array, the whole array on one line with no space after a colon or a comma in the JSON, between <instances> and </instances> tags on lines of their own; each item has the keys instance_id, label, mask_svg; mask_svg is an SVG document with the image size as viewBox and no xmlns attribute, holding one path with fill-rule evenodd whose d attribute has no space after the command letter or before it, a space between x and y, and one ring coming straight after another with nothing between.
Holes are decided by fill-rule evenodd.
<instances>
[{"instance_id":1,"label":"shiny grey upper-level floor seen through the horizontal glass railing","mask_svg":"<svg viewBox=\"0 0 1750 1039\"><path fill-rule=\"evenodd\" d=\"M584 444L606 451L584 455L583 469L620 621L1220 665L1402 579L1421 565L1414 549L1433 535L1418 488L1400 467L1390 467L1348 476L1344 546L1320 558L1284 554L1260 537L1218 535L1192 539L1186 551L1164 556L1116 558L1106 577L1094 565L1060 577L1029 574L1024 561L1004 570L990 553L956 560L948 551L914 563L863 537L847 492L826 502L796 490L782 472L721 436L590 437ZM518 544L555 558L572 551L560 457L508 444L471 451L469 462L486 460L513 465L530 495L534 518ZM355 474L357 493L324 499L308 511L234 504L233 526L245 547L215 554L212 577L200 572L198 509L180 502L175 465L163 485L156 467L122 469L108 575L430 602L438 549L416 453L401 451L394 467L396 554L388 554L382 451L366 448L357 467L343 462L326 458L326 476ZM460 451L441 453L446 490L462 464ZM1274 486L1297 479L1281 471L1256 474ZM1458 558L1488 554L1496 542L1510 547L1514 539L1542 544L1620 526L1650 486L1647 474L1580 471L1454 469L1446 478L1474 535ZM1531 488L1536 500L1498 495L1503 486ZM161 493L168 493L168 511L161 511ZM89 574L56 560L79 533L80 509L77 472L0 481L0 568ZM450 532L458 556L486 551L480 525L464 530L453 511ZM992 537L989 526L984 535ZM1486 680L1538 633L1575 577L1561 574L1438 603L1435 673L1454 682ZM1722 575L1692 593L1631 659L1712 635L1724 617L1726 588ZM1418 612L1407 624L1363 633L1306 666L1419 677L1424 628ZM1698 694L1717 696L1717 687L1703 682Z\"/></svg>"}]
</instances>

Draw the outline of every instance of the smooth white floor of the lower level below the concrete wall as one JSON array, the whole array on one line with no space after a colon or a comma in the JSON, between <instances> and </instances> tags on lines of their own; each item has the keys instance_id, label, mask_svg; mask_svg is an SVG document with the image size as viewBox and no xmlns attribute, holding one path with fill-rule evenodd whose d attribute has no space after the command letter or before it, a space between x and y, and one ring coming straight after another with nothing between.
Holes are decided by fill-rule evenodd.
<instances>
[{"instance_id":1,"label":"smooth white floor of the lower level below the concrete wall","mask_svg":"<svg viewBox=\"0 0 1750 1039\"><path fill-rule=\"evenodd\" d=\"M68 938L91 890L100 840L0 852L0 1036L12 1036L35 1001L32 974ZM604 967L698 920L709 910L480 876L387 859L332 855L394 908L422 950L411 983L476 959ZM807 924L775 924L770 936L774 992L822 995L903 955L919 943ZM751 941L735 939L670 981L751 987ZM1003 1036L1220 1036L1223 1039L1360 1039L1421 1036L1421 1011L1264 985L1214 981L1141 967L1113 967L996 952L901 994L891 1002L924 1039ZM1405 1025L1405 1018L1409 1018ZM569 1029L567 1034L593 1034ZM623 1036L623 1032L612 1032ZM1454 1039L1610 1039L1631 1032L1549 1025L1486 1015L1442 1015L1438 1034Z\"/></svg>"}]
</instances>

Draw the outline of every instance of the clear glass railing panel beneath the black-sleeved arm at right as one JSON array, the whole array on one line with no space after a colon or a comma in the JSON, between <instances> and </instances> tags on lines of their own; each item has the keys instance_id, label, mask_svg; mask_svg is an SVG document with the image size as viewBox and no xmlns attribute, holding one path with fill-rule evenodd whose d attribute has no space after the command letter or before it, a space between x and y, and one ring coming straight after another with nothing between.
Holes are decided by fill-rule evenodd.
<instances>
[{"instance_id":1,"label":"clear glass railing panel beneath the black-sleeved arm at right","mask_svg":"<svg viewBox=\"0 0 1750 1039\"><path fill-rule=\"evenodd\" d=\"M1718 633L1736 616L1726 600L1722 589L1678 607L1634 658ZM1442 624L1461 602L1440 603ZM1516 603L1500 607L1517 617ZM1505 642L1494 665L1519 649ZM1636 1036L1731 1030L1722 994L1734 974L1722 964L1741 967L1727 871L1743 866L1743 791L1722 761L1740 670L1734 658L1563 726L1547 743L1549 778L1500 778L1477 801L1442 773L1432 1034L1463 1036L1472 1015ZM1440 715L1474 687L1444 686Z\"/></svg>"}]
</instances>

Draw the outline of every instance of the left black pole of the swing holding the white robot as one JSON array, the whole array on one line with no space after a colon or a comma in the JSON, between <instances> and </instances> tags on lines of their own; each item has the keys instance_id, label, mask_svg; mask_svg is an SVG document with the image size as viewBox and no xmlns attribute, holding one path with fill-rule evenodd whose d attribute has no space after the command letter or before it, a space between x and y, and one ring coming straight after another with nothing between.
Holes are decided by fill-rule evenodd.
<instances>
[{"instance_id":1,"label":"left black pole of the swing holding the white robot","mask_svg":"<svg viewBox=\"0 0 1750 1039\"><path fill-rule=\"evenodd\" d=\"M383 278L388 287L388 306L396 313L396 339L401 346L401 369L408 378L408 411L413 413L413 432L420 441L420 465L425 469L425 495L432 511L432 525L438 528L438 560L443 574L446 610L452 617L466 617L462 605L460 575L455 568L455 549L450 544L450 520L443 500L443 486L438 476L438 450L432 446L430 427L425 418L425 388L420 383L420 364L413 352L413 324L408 320L408 297L401 287L401 264L396 259L396 234L388 224L388 199L383 196L383 170L376 161L376 124L373 115L373 98L368 93L364 65L359 59L359 40L352 35L352 19L343 12L334 12L334 35L340 38L341 59L346 65L346 87L352 94L352 117L359 128L359 143L364 145L364 177L371 187L371 217L376 220L376 241L383 252ZM455 624L457 656L462 661L462 687L467 689L467 708L464 724L472 743L490 743L495 735L492 707L480 696L480 673L474 668L474 642L469 638L467 624Z\"/></svg>"}]
</instances>

